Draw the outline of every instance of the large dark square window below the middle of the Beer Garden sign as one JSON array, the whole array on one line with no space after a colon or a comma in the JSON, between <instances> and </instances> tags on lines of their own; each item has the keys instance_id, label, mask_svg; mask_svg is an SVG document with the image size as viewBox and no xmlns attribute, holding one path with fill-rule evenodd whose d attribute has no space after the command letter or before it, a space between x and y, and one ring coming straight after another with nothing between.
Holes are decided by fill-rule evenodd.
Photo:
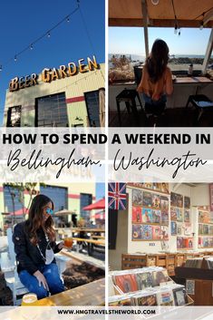
<instances>
[{"instance_id":1,"label":"large dark square window below the middle of the Beer Garden sign","mask_svg":"<svg viewBox=\"0 0 213 320\"><path fill-rule=\"evenodd\" d=\"M68 116L65 93L47 95L36 99L35 126L67 127Z\"/></svg>"}]
</instances>

